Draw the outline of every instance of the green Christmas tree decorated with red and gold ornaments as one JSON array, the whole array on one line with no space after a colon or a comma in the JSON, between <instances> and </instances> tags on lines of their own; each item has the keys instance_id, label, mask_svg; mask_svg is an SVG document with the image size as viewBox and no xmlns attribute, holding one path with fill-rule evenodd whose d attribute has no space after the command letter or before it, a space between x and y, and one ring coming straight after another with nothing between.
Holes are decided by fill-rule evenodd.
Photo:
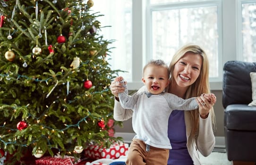
<instances>
[{"instance_id":1,"label":"green Christmas tree decorated with red and gold ornaments","mask_svg":"<svg viewBox=\"0 0 256 165\"><path fill-rule=\"evenodd\" d=\"M0 0L0 148L76 155L109 136L108 45L88 0Z\"/></svg>"}]
</instances>

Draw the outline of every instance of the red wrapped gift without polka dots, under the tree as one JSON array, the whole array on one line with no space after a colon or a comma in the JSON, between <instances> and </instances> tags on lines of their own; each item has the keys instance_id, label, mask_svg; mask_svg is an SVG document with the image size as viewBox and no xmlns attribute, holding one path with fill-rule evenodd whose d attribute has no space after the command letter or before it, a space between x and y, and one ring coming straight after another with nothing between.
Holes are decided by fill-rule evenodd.
<instances>
[{"instance_id":1,"label":"red wrapped gift without polka dots, under the tree","mask_svg":"<svg viewBox=\"0 0 256 165\"><path fill-rule=\"evenodd\" d=\"M73 157L42 157L35 161L36 165L74 165L75 159Z\"/></svg>"}]
</instances>

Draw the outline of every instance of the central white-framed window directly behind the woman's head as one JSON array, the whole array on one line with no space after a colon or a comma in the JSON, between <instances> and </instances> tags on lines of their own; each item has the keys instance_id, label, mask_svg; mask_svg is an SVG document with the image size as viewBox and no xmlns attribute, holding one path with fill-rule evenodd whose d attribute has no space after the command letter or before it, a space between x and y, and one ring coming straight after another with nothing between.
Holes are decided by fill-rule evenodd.
<instances>
[{"instance_id":1,"label":"central white-framed window directly behind the woman's head","mask_svg":"<svg viewBox=\"0 0 256 165\"><path fill-rule=\"evenodd\" d=\"M151 0L155 1L155 0ZM170 0L169 0L170 1ZM171 0L177 1L177 0ZM164 5L150 4L152 23L152 53L147 53L148 59L163 59L167 64L171 62L174 53L182 45L193 42L204 48L210 62L210 80L220 80L220 66L222 51L221 5L219 0L198 1L184 3L165 3ZM187 0L188 1L188 0ZM149 28L150 29L150 28ZM147 46L147 48L151 48Z\"/></svg>"}]
</instances>

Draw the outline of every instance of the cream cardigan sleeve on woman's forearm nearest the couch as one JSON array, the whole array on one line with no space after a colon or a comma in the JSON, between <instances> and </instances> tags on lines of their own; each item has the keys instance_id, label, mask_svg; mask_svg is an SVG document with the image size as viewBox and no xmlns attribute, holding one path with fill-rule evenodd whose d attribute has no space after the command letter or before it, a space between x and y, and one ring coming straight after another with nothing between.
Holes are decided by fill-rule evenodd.
<instances>
[{"instance_id":1,"label":"cream cardigan sleeve on woman's forearm nearest the couch","mask_svg":"<svg viewBox=\"0 0 256 165\"><path fill-rule=\"evenodd\" d=\"M200 153L205 157L209 156L213 151L215 146L215 137L213 134L210 115L205 119L199 115L199 131L196 139L196 146Z\"/></svg>"}]
</instances>

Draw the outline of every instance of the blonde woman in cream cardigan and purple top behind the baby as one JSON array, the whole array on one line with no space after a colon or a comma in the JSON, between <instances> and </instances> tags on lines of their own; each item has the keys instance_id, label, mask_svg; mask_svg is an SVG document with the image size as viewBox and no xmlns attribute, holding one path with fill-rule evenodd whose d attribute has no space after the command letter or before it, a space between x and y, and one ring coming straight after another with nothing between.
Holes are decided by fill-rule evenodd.
<instances>
[{"instance_id":1,"label":"blonde woman in cream cardigan and purple top behind the baby","mask_svg":"<svg viewBox=\"0 0 256 165\"><path fill-rule=\"evenodd\" d=\"M198 45L187 44L173 56L171 63L171 83L166 91L183 99L210 93L209 62L205 51ZM111 83L115 95L114 119L124 121L132 117L133 111L123 109L118 101L118 93L124 91L121 83ZM143 88L142 88L143 90ZM213 130L215 115L213 105L200 105L192 111L174 110L169 117L168 137L170 150L168 165L201 165L198 152L208 156L215 145Z\"/></svg>"}]
</instances>

